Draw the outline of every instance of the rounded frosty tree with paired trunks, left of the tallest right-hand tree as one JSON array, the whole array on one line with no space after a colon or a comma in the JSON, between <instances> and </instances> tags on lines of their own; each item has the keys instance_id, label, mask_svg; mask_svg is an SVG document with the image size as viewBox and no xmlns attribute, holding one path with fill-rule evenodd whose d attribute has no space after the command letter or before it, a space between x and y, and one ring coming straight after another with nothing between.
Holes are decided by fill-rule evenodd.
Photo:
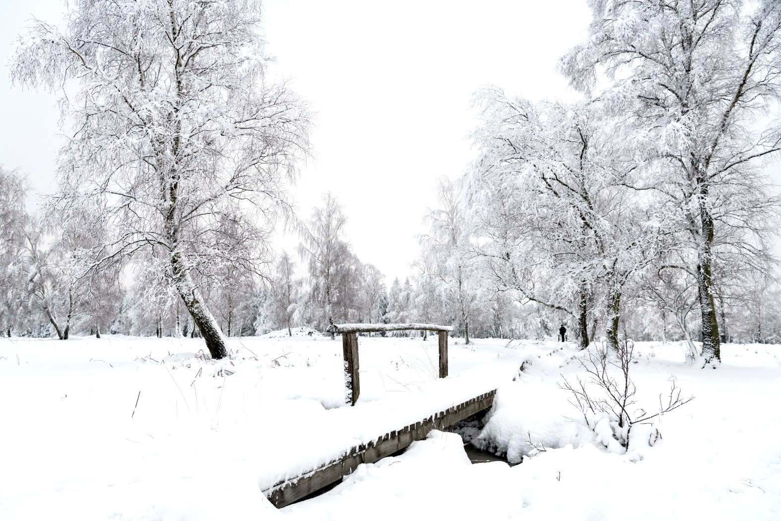
<instances>
[{"instance_id":1,"label":"rounded frosty tree with paired trunks, left of the tallest right-hand tree","mask_svg":"<svg viewBox=\"0 0 781 521\"><path fill-rule=\"evenodd\" d=\"M622 289L654 259L659 228L631 187L620 129L597 102L535 105L496 88L476 101L483 124L468 193L477 251L520 300L569 316L581 348L601 310L617 348Z\"/></svg>"}]
</instances>

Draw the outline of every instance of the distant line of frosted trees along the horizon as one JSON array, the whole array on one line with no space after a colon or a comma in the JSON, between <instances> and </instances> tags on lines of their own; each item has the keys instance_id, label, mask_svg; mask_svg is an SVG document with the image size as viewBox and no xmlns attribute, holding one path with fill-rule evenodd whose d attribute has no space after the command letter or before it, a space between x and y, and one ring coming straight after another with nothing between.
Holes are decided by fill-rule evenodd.
<instances>
[{"instance_id":1,"label":"distant line of frosted trees along the horizon","mask_svg":"<svg viewBox=\"0 0 781 521\"><path fill-rule=\"evenodd\" d=\"M0 169L0 179L2 334L62 339L71 334L200 335L159 259L90 270L87 252L101 242L100 227L41 216L45 209L31 216L25 210L25 177ZM324 332L331 323L424 322L452 326L455 336L470 342L483 337L544 340L555 337L565 323L570 339L579 341L578 323L566 307L577 301L568 300L556 285L572 287L573 292L577 287L557 280L559 272L537 266L508 273L501 268L508 259L489 253L495 244L477 234L485 226L483 220L468 223L465 192L448 180L440 181L438 191L440 208L426 216L429 232L420 236L419 257L404 280L395 278L388 285L379 269L352 252L344 236L347 218L332 194L325 194L323 204L299 224L298 255L280 252L261 274L226 266L219 277L203 273L194 280L226 337L274 330L292 334L299 327ZM545 234L543 240L550 243L535 244L530 248L533 255L551 255L544 248L560 239ZM642 269L633 271L622 286L616 334L640 341L699 341L694 288L660 276L653 262L638 259ZM565 273L573 269L552 266ZM520 273L539 278L520 278ZM723 341L781 343L781 286L773 273L738 273L719 290ZM505 284L506 277L519 277L509 280L526 281L540 293L526 298L524 291L531 290ZM610 287L591 288L589 341L608 341L607 331L615 327L608 315L615 312L608 300ZM541 291L551 295L550 302L537 302L541 298L535 295Z\"/></svg>"}]
</instances>

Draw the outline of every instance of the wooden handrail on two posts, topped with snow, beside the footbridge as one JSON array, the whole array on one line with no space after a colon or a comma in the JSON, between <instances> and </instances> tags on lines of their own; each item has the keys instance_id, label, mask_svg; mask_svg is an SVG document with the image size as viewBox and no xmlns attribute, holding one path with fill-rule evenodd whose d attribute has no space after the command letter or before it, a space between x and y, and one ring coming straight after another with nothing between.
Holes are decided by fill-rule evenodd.
<instances>
[{"instance_id":1,"label":"wooden handrail on two posts, topped with snow, beside the footbridge","mask_svg":"<svg viewBox=\"0 0 781 521\"><path fill-rule=\"evenodd\" d=\"M350 405L355 405L355 402L358 401L358 394L361 394L361 380L358 376L358 333L406 330L437 331L439 334L439 377L448 376L448 332L453 330L450 326L437 326L435 324L333 324L326 331L342 336L344 386L347 389L345 401Z\"/></svg>"}]
</instances>

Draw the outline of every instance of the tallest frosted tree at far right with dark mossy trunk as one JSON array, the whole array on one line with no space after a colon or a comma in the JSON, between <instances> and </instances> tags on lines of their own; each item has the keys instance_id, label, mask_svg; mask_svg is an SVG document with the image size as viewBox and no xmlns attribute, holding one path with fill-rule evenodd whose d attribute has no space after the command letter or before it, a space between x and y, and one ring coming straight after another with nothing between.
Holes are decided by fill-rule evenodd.
<instances>
[{"instance_id":1,"label":"tallest frosted tree at far right with dark mossy trunk","mask_svg":"<svg viewBox=\"0 0 781 521\"><path fill-rule=\"evenodd\" d=\"M719 360L714 262L719 235L730 248L765 248L758 217L776 206L758 160L781 151L781 126L765 116L781 93L781 2L615 0L590 2L585 43L560 63L571 84L599 95L633 128L625 135L653 188L676 208L681 269L697 283L705 362Z\"/></svg>"}]
</instances>

